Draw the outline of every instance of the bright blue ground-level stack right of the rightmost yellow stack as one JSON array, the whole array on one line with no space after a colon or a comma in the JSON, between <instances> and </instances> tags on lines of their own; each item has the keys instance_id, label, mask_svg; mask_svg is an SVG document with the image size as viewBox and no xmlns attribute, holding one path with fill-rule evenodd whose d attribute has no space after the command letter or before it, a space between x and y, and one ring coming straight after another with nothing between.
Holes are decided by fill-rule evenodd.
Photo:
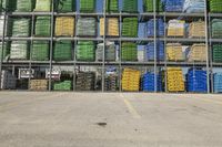
<instances>
[{"instance_id":1,"label":"bright blue ground-level stack right of the rightmost yellow stack","mask_svg":"<svg viewBox=\"0 0 222 147\"><path fill-rule=\"evenodd\" d=\"M188 92L205 93L208 92L206 71L190 69L186 74Z\"/></svg>"}]
</instances>

